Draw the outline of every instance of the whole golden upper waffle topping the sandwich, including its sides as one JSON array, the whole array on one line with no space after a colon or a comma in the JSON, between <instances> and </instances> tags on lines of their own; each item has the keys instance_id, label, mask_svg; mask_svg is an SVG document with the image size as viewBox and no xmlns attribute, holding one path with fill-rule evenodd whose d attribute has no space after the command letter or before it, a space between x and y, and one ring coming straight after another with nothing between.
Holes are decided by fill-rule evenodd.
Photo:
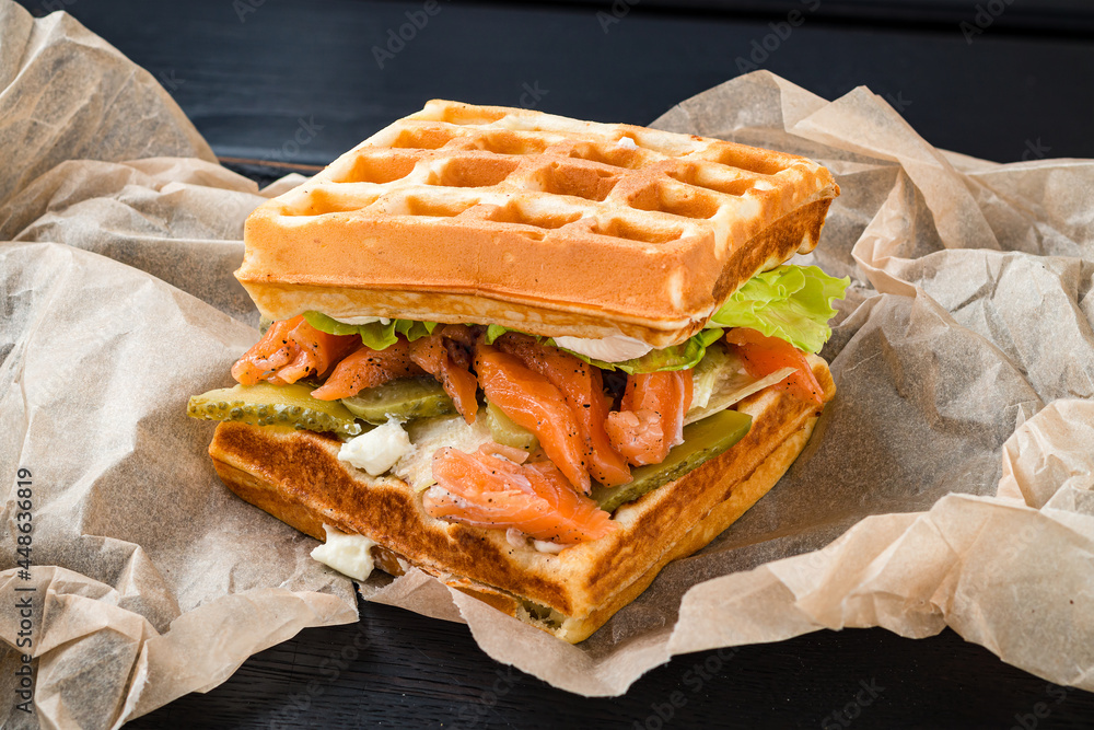
<instances>
[{"instance_id":1,"label":"whole golden upper waffle topping the sandwich, including its sides","mask_svg":"<svg viewBox=\"0 0 1094 730\"><path fill-rule=\"evenodd\" d=\"M265 316L307 310L686 339L808 252L839 188L805 158L433 101L247 220Z\"/></svg>"}]
</instances>

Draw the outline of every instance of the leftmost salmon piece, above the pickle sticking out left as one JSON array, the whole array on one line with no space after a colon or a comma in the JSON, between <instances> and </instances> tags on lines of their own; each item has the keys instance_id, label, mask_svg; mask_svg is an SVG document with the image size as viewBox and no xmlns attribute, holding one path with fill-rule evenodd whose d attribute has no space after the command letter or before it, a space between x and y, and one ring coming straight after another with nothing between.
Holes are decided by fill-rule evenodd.
<instances>
[{"instance_id":1,"label":"leftmost salmon piece, above the pickle sticking out left","mask_svg":"<svg viewBox=\"0 0 1094 730\"><path fill-rule=\"evenodd\" d=\"M356 335L321 332L300 314L271 324L261 339L232 366L232 376L244 385L261 381L288 385L306 375L323 378L360 341Z\"/></svg>"}]
</instances>

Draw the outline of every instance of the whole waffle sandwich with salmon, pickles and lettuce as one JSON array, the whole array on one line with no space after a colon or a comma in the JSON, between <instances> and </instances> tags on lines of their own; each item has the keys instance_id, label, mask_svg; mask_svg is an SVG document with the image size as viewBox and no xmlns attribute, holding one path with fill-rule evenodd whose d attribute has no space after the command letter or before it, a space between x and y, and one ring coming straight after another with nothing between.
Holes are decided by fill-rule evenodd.
<instances>
[{"instance_id":1,"label":"whole waffle sandwich with salmon, pickles and lettuce","mask_svg":"<svg viewBox=\"0 0 1094 730\"><path fill-rule=\"evenodd\" d=\"M269 328L190 415L243 499L360 536L328 564L580 641L804 448L846 283L784 262L838 194L800 157L430 102L252 213Z\"/></svg>"}]
</instances>

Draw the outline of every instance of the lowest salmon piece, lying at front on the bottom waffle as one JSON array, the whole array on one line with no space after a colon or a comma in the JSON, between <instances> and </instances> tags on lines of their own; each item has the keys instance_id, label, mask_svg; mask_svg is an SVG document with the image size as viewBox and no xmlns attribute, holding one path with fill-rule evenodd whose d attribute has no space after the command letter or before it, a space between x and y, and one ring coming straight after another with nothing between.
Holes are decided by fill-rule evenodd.
<instances>
[{"instance_id":1,"label":"lowest salmon piece, lying at front on the bottom waffle","mask_svg":"<svg viewBox=\"0 0 1094 730\"><path fill-rule=\"evenodd\" d=\"M438 486L422 495L426 512L478 528L515 528L559 545L598 540L615 529L612 515L577 494L555 464L521 463L526 457L497 443L473 454L439 449L433 454Z\"/></svg>"}]
</instances>

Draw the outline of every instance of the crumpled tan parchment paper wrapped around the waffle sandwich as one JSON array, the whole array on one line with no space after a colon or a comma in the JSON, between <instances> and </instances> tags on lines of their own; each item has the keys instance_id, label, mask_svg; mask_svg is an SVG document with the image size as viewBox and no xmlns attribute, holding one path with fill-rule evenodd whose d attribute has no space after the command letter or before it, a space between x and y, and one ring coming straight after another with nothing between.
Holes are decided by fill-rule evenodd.
<instances>
[{"instance_id":1,"label":"crumpled tan parchment paper wrapped around the waffle sandwich","mask_svg":"<svg viewBox=\"0 0 1094 730\"><path fill-rule=\"evenodd\" d=\"M229 493L212 426L185 416L257 337L231 276L243 221L300 178L259 192L218 166L147 72L63 13L0 2L0 695L19 688L22 595L36 672L35 714L5 702L0 725L117 727L303 627L356 619L351 582ZM491 657L585 695L675 653L843 626L948 625L1094 690L1094 163L936 150L865 89L827 102L767 72L654 126L837 176L803 259L853 285L810 445L577 647L417 571L362 593L466 622Z\"/></svg>"}]
</instances>

